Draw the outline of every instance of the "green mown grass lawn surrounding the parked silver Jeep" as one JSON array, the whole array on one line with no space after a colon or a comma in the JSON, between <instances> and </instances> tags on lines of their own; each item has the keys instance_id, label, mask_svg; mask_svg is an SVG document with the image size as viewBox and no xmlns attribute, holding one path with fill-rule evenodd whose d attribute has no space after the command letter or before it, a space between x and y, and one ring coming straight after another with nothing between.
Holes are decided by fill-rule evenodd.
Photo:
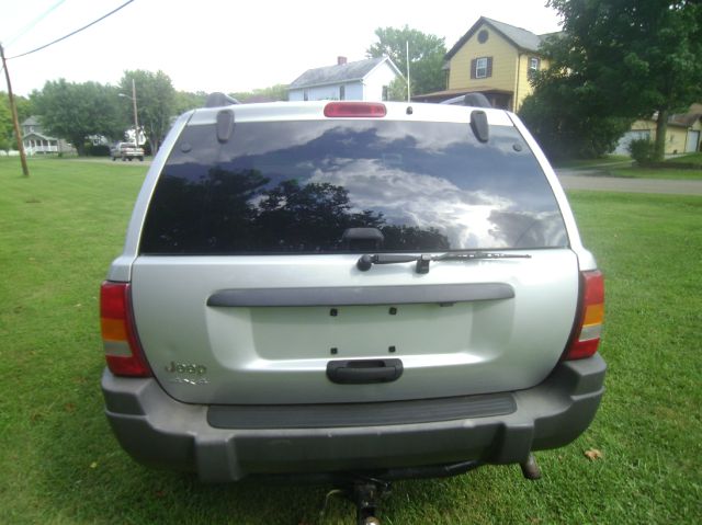
<instances>
[{"instance_id":1,"label":"green mown grass lawn surrounding the parked silver Jeep","mask_svg":"<svg viewBox=\"0 0 702 525\"><path fill-rule=\"evenodd\" d=\"M98 292L144 164L0 159L0 523L348 524L328 487L203 486L129 459L103 415ZM702 198L574 192L607 275L607 395L544 477L404 481L384 524L699 523ZM585 450L602 458L590 460Z\"/></svg>"}]
</instances>

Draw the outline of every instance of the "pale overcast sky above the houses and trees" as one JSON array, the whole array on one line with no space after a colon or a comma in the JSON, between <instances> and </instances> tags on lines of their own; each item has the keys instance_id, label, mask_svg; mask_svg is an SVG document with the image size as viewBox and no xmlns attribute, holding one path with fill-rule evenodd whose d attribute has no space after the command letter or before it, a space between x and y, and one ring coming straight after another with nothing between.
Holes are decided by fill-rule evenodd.
<instances>
[{"instance_id":1,"label":"pale overcast sky above the houses and trees","mask_svg":"<svg viewBox=\"0 0 702 525\"><path fill-rule=\"evenodd\" d=\"M0 0L5 56L75 31L126 0ZM125 69L163 70L178 90L248 91L290 83L309 68L365 58L378 26L408 24L446 48L480 16L534 33L558 30L546 0L135 0L97 25L8 62L18 94L46 80L116 84ZM344 8L342 5L349 5ZM351 8L353 5L353 8ZM4 78L0 90L5 90Z\"/></svg>"}]
</instances>

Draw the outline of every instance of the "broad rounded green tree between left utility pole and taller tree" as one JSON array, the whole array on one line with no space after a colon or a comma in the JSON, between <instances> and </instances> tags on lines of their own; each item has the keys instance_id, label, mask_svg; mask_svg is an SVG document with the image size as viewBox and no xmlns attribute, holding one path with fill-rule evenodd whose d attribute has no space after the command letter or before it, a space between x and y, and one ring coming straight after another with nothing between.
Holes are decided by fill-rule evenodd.
<instances>
[{"instance_id":1,"label":"broad rounded green tree between left utility pole and taller tree","mask_svg":"<svg viewBox=\"0 0 702 525\"><path fill-rule=\"evenodd\" d=\"M117 107L117 91L98 82L73 83L49 80L42 91L34 91L31 102L46 132L68 139L79 155L86 152L90 135L120 137L124 121Z\"/></svg>"}]
</instances>

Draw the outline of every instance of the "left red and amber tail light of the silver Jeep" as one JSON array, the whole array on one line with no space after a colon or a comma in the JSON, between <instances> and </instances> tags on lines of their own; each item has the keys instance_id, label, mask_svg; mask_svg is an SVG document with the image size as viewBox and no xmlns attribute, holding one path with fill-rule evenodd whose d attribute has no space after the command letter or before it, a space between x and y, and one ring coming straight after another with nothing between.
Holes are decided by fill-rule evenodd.
<instances>
[{"instance_id":1,"label":"left red and amber tail light of the silver Jeep","mask_svg":"<svg viewBox=\"0 0 702 525\"><path fill-rule=\"evenodd\" d=\"M136 335L128 283L102 283L100 326L107 368L113 374L132 377L151 375Z\"/></svg>"}]
</instances>

